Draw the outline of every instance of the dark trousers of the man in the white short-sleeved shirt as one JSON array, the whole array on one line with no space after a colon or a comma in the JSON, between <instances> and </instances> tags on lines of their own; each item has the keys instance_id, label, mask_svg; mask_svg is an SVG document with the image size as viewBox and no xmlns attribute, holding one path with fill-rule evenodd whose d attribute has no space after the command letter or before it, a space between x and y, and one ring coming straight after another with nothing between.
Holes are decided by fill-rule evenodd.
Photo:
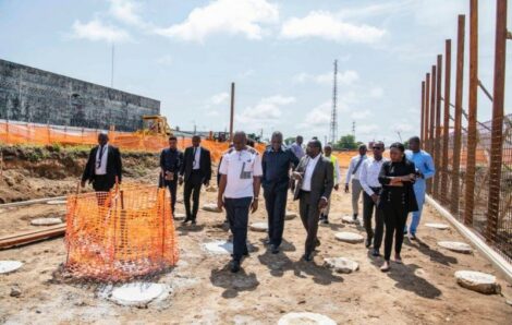
<instances>
[{"instance_id":1,"label":"dark trousers of the man in the white short-sleeved shirt","mask_svg":"<svg viewBox=\"0 0 512 325\"><path fill-rule=\"evenodd\" d=\"M233 233L233 260L239 262L244 254L247 254L247 224L252 202L253 197L224 197L225 213Z\"/></svg>"}]
</instances>

